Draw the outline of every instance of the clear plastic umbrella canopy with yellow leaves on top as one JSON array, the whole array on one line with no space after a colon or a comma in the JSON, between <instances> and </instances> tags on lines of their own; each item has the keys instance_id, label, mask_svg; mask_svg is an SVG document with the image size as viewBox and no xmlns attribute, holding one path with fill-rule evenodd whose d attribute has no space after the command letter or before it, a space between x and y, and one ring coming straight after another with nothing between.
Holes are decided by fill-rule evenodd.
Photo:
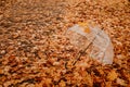
<instances>
[{"instance_id":1,"label":"clear plastic umbrella canopy with yellow leaves on top","mask_svg":"<svg viewBox=\"0 0 130 87\"><path fill-rule=\"evenodd\" d=\"M108 35L99 27L79 23L68 28L66 36L79 51L86 50L89 57L103 64L113 63L114 51L112 41Z\"/></svg>"}]
</instances>

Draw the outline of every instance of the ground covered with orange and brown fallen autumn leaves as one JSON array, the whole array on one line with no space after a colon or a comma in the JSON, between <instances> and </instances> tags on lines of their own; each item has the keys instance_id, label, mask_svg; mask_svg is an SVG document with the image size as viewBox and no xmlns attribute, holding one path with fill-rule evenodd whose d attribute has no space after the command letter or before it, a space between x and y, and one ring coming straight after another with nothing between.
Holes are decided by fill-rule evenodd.
<instances>
[{"instance_id":1,"label":"ground covered with orange and brown fallen autumn leaves","mask_svg":"<svg viewBox=\"0 0 130 87\"><path fill-rule=\"evenodd\" d=\"M129 0L0 0L0 87L130 87L129 16ZM73 64L65 32L88 21L110 37L112 65L87 53Z\"/></svg>"}]
</instances>

